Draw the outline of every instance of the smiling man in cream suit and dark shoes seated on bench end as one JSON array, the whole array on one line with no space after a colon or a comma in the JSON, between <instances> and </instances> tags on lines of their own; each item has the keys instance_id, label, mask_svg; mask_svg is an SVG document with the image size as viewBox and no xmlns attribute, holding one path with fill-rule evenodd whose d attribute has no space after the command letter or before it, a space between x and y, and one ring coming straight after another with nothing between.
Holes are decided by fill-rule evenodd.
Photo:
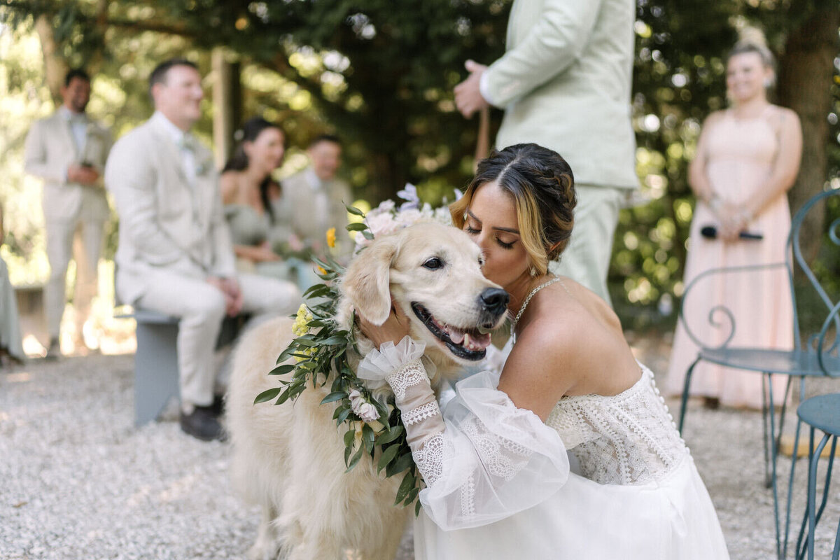
<instances>
[{"instance_id":1,"label":"smiling man in cream suit and dark shoes seated on bench end","mask_svg":"<svg viewBox=\"0 0 840 560\"><path fill-rule=\"evenodd\" d=\"M301 295L281 280L236 274L213 157L190 133L204 96L196 65L161 63L150 92L155 114L114 144L105 167L120 218L117 293L181 318L181 429L221 439L213 348L225 314L288 314Z\"/></svg>"}]
</instances>

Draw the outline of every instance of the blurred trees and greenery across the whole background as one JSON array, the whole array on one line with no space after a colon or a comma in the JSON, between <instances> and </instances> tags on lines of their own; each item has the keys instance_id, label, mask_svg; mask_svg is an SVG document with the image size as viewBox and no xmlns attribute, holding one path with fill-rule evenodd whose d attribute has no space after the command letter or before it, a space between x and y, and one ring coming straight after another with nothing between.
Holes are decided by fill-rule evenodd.
<instances>
[{"instance_id":1,"label":"blurred trees and greenery across the whole background","mask_svg":"<svg viewBox=\"0 0 840 560\"><path fill-rule=\"evenodd\" d=\"M638 0L637 7L631 102L640 191L622 210L610 285L625 327L667 329L684 287L694 207L686 168L703 118L726 105L723 55L740 29L764 30L779 59L774 102L802 119L792 210L816 191L840 188L840 3ZM436 204L465 186L474 163L477 119L460 117L452 88L465 78L464 60L501 55L509 8L507 0L0 0L7 228L0 250L13 283L47 276L39 182L24 175L23 143L30 123L54 109L67 68L94 76L89 112L119 137L151 113L151 69L186 56L201 67L207 92L223 79L232 86L223 107L206 98L197 133L207 144L214 115L239 123L261 113L286 130L282 178L306 164L309 139L338 133L354 196L375 205L410 181ZM501 112L491 118L495 133ZM825 212L840 217L837 205ZM116 224L108 228L111 259ZM840 291L837 254L817 254L823 225L809 228L815 268Z\"/></svg>"}]
</instances>

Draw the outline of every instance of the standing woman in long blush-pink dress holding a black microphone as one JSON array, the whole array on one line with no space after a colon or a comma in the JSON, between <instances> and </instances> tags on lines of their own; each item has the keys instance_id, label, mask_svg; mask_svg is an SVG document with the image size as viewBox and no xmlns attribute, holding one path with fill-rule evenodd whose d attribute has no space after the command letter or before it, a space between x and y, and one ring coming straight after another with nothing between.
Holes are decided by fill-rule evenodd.
<instances>
[{"instance_id":1,"label":"standing woman in long blush-pink dress holding a black microphone","mask_svg":"<svg viewBox=\"0 0 840 560\"><path fill-rule=\"evenodd\" d=\"M773 58L757 40L735 45L727 60L727 92L732 107L711 113L703 124L689 182L697 196L685 263L685 285L704 270L717 267L780 263L790 230L786 191L799 171L802 133L796 113L772 105L767 88L774 79ZM717 238L701 235L717 229ZM742 232L761 239L743 239ZM790 349L793 307L784 269L759 273L711 275L692 288L683 317L708 346L719 346L727 327L713 327L714 306L732 311L736 322L733 346ZM665 388L680 395L685 372L697 357L697 346L680 322L675 333ZM785 379L773 380L775 405L784 399ZM691 395L706 406L761 408L762 376L753 372L697 364Z\"/></svg>"}]
</instances>

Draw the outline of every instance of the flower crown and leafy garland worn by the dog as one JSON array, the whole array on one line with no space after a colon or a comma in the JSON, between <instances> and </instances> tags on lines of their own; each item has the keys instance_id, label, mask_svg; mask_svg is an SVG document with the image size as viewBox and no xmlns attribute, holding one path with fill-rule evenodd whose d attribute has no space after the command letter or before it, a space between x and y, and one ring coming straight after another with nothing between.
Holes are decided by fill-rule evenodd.
<instances>
[{"instance_id":1,"label":"flower crown and leafy garland worn by the dog","mask_svg":"<svg viewBox=\"0 0 840 560\"><path fill-rule=\"evenodd\" d=\"M361 218L360 222L347 226L347 230L355 235L354 254L365 250L376 237L396 233L415 223L452 225L449 208L444 205L433 209L428 202L421 205L415 186L407 184L404 190L397 192L397 196L405 201L399 207L392 200L383 201L367 214L358 208L347 207L348 212ZM456 190L455 200L459 198L460 192ZM333 247L334 229L328 232L327 237L328 245ZM276 399L275 404L281 405L286 400L295 400L307 386L326 385L328 374L324 372L334 374L330 393L321 400L321 404L338 403L333 419L338 427L347 428L344 432L347 472L359 463L364 453L372 459L375 448L381 447L377 463L379 472L385 469L386 477L406 473L396 492L395 505L411 505L420 492L421 477L406 441L402 414L392 400L381 402L376 399L356 376L348 360L349 348L358 353L353 329L342 329L335 322L340 296L336 280L344 274L344 267L329 255L312 260L318 264L318 277L323 282L313 285L303 296L319 303L301 304L292 325L296 338L277 358L277 367L269 372L270 375L291 374L291 377L281 379L281 387L257 395L254 403ZM417 501L415 514L419 511L420 502Z\"/></svg>"}]
</instances>

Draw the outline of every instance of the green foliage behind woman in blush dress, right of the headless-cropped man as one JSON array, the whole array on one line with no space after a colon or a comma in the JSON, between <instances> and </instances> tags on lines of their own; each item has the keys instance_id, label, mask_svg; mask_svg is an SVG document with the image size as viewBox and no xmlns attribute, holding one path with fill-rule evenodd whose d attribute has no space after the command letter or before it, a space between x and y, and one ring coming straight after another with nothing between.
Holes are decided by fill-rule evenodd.
<instances>
[{"instance_id":1,"label":"green foliage behind woman in blush dress, right of the headless-cropped man","mask_svg":"<svg viewBox=\"0 0 840 560\"><path fill-rule=\"evenodd\" d=\"M769 46L784 68L786 57L793 55L794 50L788 44L789 37L797 33L799 26L815 18L837 21L830 18L837 18L838 14L840 4L829 2L638 0L633 115L638 140L637 170L645 203L622 211L616 236L610 280L613 301L622 308L622 317L635 317L633 323L637 325L659 321L662 317L656 312L656 305L660 302L663 309L676 311L678 301L674 296L680 296L683 289L686 239L694 207L687 168L694 157L703 120L712 111L727 106L724 57L738 39L738 29L747 25L764 29ZM834 53L833 67L832 60L823 64L822 71L827 75L816 81L817 89L830 92L827 102L797 105L795 92L784 99L774 99L797 109L806 136L821 138L815 144L822 144L829 155L827 165L816 162L817 169L813 170L815 164L810 164L820 180L794 187L794 212L802 201L822 190L827 179L833 178L832 186L840 186L840 47L837 24L833 26L833 44L828 43L829 52ZM815 76L819 76L816 71ZM780 80L784 79L782 73ZM779 89L784 87L784 82L780 83ZM809 127L803 115L808 111L816 113L816 121L830 126L825 130L813 124ZM806 165L809 164L803 160L803 175ZM796 196L801 191L804 194ZM838 216L836 209L829 212ZM823 264L826 258L822 255ZM823 264L820 266L826 280L832 274L834 278L840 275L836 264L833 268ZM669 318L673 320L675 312Z\"/></svg>"}]
</instances>

